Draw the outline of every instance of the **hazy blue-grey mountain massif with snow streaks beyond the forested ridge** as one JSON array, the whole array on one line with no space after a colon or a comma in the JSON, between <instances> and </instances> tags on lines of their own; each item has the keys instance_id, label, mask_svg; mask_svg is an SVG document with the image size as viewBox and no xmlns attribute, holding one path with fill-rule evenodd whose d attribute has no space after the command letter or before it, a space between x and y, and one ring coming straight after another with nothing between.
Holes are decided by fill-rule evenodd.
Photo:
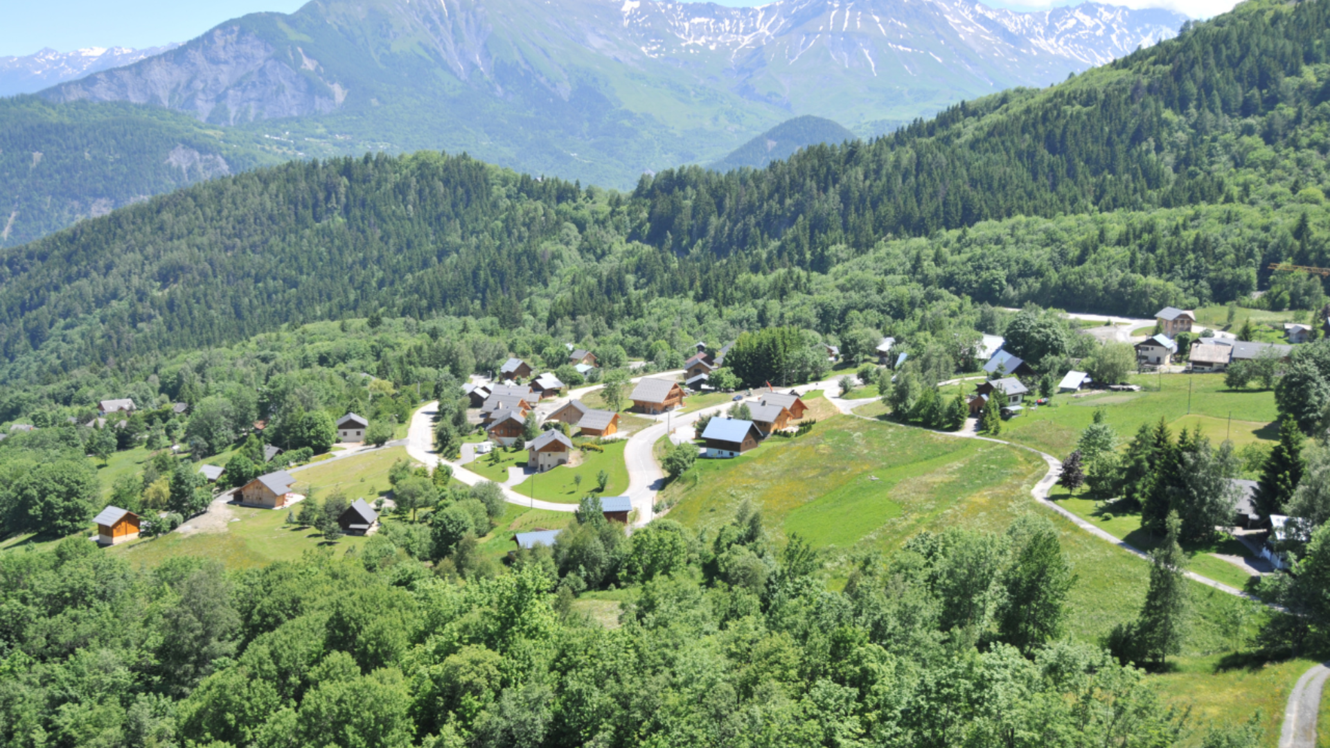
<instances>
[{"instance_id":1,"label":"hazy blue-grey mountain massif with snow streaks beyond the forested ridge","mask_svg":"<svg viewBox=\"0 0 1330 748\"><path fill-rule=\"evenodd\" d=\"M793 116L878 134L959 98L1037 85L1168 39L1185 19L972 0L315 0L255 13L41 93L241 125L311 148L443 148L626 186L708 162Z\"/></svg>"}]
</instances>

